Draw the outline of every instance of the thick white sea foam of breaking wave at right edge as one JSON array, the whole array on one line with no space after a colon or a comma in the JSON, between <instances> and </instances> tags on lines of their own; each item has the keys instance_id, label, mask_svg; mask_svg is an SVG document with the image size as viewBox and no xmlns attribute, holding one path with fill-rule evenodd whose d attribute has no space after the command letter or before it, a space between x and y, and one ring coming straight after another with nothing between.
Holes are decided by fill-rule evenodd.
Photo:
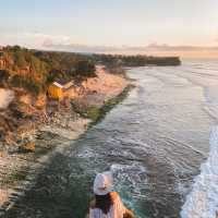
<instances>
[{"instance_id":1,"label":"thick white sea foam of breaking wave at right edge","mask_svg":"<svg viewBox=\"0 0 218 218\"><path fill-rule=\"evenodd\" d=\"M218 217L218 126L210 133L209 157L201 167L192 192L182 207L182 218Z\"/></svg>"}]
</instances>

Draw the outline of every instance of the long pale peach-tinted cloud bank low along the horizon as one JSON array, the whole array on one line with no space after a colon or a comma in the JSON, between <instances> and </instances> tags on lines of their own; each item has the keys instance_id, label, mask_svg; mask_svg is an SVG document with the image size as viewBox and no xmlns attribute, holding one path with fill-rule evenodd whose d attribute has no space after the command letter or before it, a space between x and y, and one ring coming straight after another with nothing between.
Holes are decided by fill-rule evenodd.
<instances>
[{"instance_id":1,"label":"long pale peach-tinted cloud bank low along the horizon","mask_svg":"<svg viewBox=\"0 0 218 218\"><path fill-rule=\"evenodd\" d=\"M1 38L2 40L2 38ZM61 50L88 53L121 53L148 56L180 56L180 57L218 57L218 47L172 46L167 44L149 44L147 46L99 46L76 44L70 36L49 35L39 32L17 33L7 35L4 45L17 44L28 48Z\"/></svg>"}]
</instances>

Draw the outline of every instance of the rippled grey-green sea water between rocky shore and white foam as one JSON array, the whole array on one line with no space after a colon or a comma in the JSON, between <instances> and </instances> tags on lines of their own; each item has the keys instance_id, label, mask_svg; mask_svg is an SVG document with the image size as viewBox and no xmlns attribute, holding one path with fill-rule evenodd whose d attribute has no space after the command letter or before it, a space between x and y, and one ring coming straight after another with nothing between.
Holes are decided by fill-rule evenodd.
<instances>
[{"instance_id":1,"label":"rippled grey-green sea water between rocky shore and white foam","mask_svg":"<svg viewBox=\"0 0 218 218\"><path fill-rule=\"evenodd\" d=\"M128 98L71 148L56 154L5 217L83 218L97 172L137 218L179 217L218 119L218 62L129 70Z\"/></svg>"}]
</instances>

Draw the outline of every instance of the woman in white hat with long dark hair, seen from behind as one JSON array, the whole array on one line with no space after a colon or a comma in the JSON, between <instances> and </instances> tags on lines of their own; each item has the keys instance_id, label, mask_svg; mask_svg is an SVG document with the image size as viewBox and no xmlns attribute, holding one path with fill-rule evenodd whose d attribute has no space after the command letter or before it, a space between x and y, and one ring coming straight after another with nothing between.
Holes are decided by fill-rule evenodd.
<instances>
[{"instance_id":1,"label":"woman in white hat with long dark hair, seen from behind","mask_svg":"<svg viewBox=\"0 0 218 218\"><path fill-rule=\"evenodd\" d=\"M135 218L133 213L124 207L119 194L112 192L112 175L110 172L98 173L94 182L95 199L89 206L86 218Z\"/></svg>"}]
</instances>

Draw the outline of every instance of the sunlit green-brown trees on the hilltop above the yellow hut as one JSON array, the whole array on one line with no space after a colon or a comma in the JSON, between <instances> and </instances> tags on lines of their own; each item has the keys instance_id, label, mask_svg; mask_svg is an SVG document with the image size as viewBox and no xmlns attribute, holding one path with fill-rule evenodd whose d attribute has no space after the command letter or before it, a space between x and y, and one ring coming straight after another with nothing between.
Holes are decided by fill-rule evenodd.
<instances>
[{"instance_id":1,"label":"sunlit green-brown trees on the hilltop above the yellow hut","mask_svg":"<svg viewBox=\"0 0 218 218\"><path fill-rule=\"evenodd\" d=\"M78 78L95 76L95 61L88 56L37 51L8 46L1 57L7 63L1 71L4 83L11 88L19 87L34 95L45 92L57 78ZM8 75L5 81L5 75Z\"/></svg>"}]
</instances>

